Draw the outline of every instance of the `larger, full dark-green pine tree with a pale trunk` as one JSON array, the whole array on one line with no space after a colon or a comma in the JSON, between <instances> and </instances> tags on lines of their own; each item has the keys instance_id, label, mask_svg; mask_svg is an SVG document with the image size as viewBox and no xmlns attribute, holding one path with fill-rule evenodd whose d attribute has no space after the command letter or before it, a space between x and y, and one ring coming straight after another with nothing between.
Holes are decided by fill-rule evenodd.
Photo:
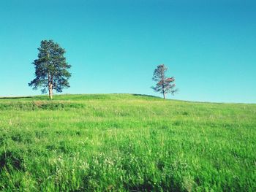
<instances>
[{"instance_id":1,"label":"larger, full dark-green pine tree with a pale trunk","mask_svg":"<svg viewBox=\"0 0 256 192\"><path fill-rule=\"evenodd\" d=\"M64 57L65 50L53 40L43 40L38 48L38 58L32 64L35 67L35 78L29 83L34 90L41 88L42 93L49 93L53 99L53 90L57 93L64 88L69 88L69 77L67 71L71 66L67 64Z\"/></svg>"}]
</instances>

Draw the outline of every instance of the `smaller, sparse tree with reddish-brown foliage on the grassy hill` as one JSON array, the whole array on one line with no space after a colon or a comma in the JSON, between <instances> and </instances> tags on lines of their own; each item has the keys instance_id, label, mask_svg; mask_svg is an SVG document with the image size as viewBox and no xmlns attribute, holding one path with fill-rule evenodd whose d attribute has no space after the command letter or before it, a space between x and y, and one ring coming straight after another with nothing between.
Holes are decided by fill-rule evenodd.
<instances>
[{"instance_id":1,"label":"smaller, sparse tree with reddish-brown foliage on the grassy hill","mask_svg":"<svg viewBox=\"0 0 256 192\"><path fill-rule=\"evenodd\" d=\"M154 89L154 91L158 92L158 93L162 93L164 99L165 99L165 95L167 93L176 93L176 91L178 91L175 88L175 79L174 77L166 77L165 76L165 72L167 71L167 67L162 64L157 66L157 69L154 69L154 74L153 74L153 78L152 80L156 81L157 84L155 86L152 86L151 88Z\"/></svg>"}]
</instances>

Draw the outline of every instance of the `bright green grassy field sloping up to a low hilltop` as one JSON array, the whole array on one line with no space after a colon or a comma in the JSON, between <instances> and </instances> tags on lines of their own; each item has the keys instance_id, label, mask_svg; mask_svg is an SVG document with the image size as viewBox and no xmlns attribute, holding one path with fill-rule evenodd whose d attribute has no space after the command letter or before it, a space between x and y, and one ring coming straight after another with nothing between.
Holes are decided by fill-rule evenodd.
<instances>
[{"instance_id":1,"label":"bright green grassy field sloping up to a low hilltop","mask_svg":"<svg viewBox=\"0 0 256 192\"><path fill-rule=\"evenodd\" d=\"M0 191L256 191L256 104L0 99Z\"/></svg>"}]
</instances>

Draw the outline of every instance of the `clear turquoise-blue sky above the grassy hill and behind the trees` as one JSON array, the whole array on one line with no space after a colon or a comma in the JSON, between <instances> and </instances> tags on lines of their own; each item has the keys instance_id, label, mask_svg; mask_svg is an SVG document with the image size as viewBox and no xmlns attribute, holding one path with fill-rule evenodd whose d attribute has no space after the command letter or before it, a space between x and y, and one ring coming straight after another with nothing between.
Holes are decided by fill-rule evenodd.
<instances>
[{"instance_id":1,"label":"clear turquoise-blue sky above the grassy hill and behind the trees","mask_svg":"<svg viewBox=\"0 0 256 192\"><path fill-rule=\"evenodd\" d=\"M67 51L64 93L142 93L165 64L189 101L256 103L256 1L1 0L0 96L38 95L37 47Z\"/></svg>"}]
</instances>

